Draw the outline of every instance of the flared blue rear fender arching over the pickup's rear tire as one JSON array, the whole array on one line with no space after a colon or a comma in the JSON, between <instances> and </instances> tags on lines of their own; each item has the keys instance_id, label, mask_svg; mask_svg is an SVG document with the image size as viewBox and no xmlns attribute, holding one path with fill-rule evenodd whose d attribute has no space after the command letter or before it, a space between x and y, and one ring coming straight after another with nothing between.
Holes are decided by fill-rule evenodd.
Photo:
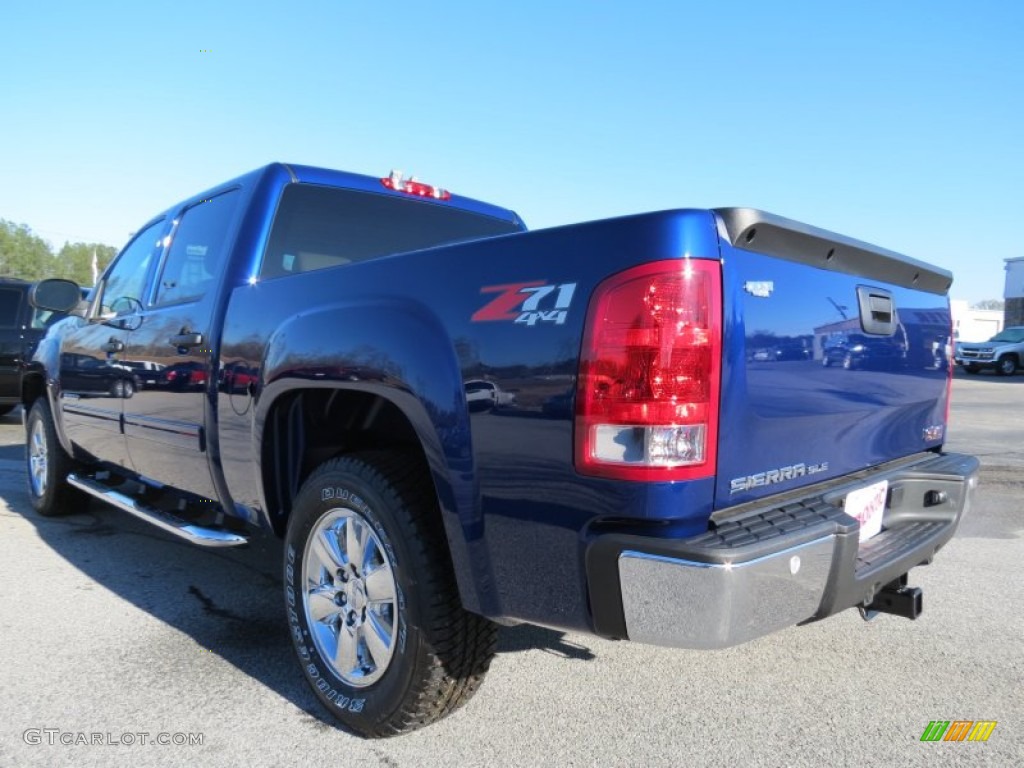
<instances>
[{"instance_id":1,"label":"flared blue rear fender arching over the pickup's rear tire","mask_svg":"<svg viewBox=\"0 0 1024 768\"><path fill-rule=\"evenodd\" d=\"M263 444L274 402L300 389L371 392L404 415L430 468L463 603L479 611L477 585L489 580L469 414L456 352L437 316L393 299L317 307L271 335L261 370L255 445Z\"/></svg>"}]
</instances>

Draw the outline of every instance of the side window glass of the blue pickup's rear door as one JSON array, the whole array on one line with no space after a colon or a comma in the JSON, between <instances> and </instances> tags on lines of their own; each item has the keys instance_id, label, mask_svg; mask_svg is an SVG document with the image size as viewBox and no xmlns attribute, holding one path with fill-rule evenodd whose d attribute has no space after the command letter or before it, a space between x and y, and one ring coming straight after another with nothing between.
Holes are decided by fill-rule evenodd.
<instances>
[{"instance_id":1,"label":"side window glass of the blue pickup's rear door","mask_svg":"<svg viewBox=\"0 0 1024 768\"><path fill-rule=\"evenodd\" d=\"M213 287L227 256L227 228L238 200L234 189L181 215L157 287L158 306L202 298Z\"/></svg>"}]
</instances>

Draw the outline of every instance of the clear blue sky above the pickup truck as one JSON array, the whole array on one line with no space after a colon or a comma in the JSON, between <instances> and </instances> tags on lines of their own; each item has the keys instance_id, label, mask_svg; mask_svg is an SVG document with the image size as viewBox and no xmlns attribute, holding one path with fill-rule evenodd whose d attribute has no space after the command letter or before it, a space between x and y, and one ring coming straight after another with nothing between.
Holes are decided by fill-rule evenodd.
<instances>
[{"instance_id":1,"label":"clear blue sky above the pickup truck","mask_svg":"<svg viewBox=\"0 0 1024 768\"><path fill-rule=\"evenodd\" d=\"M0 218L120 247L272 160L391 168L532 228L743 205L1000 297L1024 4L6 3Z\"/></svg>"}]
</instances>

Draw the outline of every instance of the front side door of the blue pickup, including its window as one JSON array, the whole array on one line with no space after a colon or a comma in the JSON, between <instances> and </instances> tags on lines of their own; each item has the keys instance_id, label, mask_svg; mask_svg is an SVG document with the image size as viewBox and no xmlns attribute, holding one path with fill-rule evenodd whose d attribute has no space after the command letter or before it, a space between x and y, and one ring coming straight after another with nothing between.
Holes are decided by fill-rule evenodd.
<instances>
[{"instance_id":1,"label":"front side door of the blue pickup, including its window","mask_svg":"<svg viewBox=\"0 0 1024 768\"><path fill-rule=\"evenodd\" d=\"M162 219L147 224L125 247L96 288L90 316L61 337L59 408L69 439L101 461L129 469L121 418L131 392L120 362L166 224Z\"/></svg>"}]
</instances>

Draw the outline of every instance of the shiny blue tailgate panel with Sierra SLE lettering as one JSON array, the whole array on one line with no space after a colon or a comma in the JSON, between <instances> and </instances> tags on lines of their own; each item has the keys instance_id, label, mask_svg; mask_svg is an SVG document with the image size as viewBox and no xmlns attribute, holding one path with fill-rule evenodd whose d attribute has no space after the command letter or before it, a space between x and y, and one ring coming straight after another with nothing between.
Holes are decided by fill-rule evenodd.
<instances>
[{"instance_id":1,"label":"shiny blue tailgate panel with Sierra SLE lettering","mask_svg":"<svg viewBox=\"0 0 1024 768\"><path fill-rule=\"evenodd\" d=\"M926 440L924 430L945 420L950 328L945 297L728 244L723 259L727 346L716 508L809 481L730 494L733 478L827 464L814 475L825 480L941 444ZM771 283L771 295L752 295L744 289L749 283ZM892 293L898 315L894 337L864 335L857 287L865 285ZM850 370L827 354L840 337L863 347L862 356L852 356Z\"/></svg>"}]
</instances>

